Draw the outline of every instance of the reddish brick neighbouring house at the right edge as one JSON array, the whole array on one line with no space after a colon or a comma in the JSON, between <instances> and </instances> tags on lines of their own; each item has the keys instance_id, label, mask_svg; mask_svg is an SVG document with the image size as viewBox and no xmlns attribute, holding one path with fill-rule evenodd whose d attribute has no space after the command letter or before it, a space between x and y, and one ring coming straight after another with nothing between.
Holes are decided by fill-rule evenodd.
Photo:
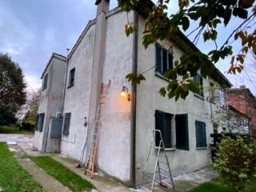
<instances>
[{"instance_id":1,"label":"reddish brick neighbouring house at the right edge","mask_svg":"<svg viewBox=\"0 0 256 192\"><path fill-rule=\"evenodd\" d=\"M256 98L246 86L227 90L227 102L240 114L250 118L249 132L256 136Z\"/></svg>"}]
</instances>

